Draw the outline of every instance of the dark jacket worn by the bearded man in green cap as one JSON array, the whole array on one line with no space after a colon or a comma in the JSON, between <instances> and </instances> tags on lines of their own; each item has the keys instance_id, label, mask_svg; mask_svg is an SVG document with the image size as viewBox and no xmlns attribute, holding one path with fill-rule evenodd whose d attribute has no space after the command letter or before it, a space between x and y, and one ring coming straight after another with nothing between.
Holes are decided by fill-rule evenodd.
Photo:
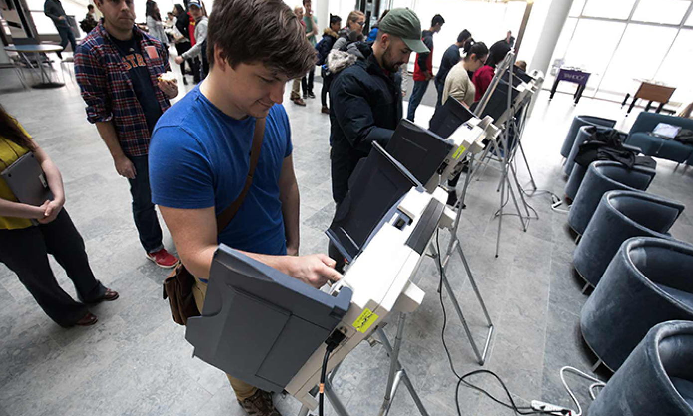
<instances>
[{"instance_id":1,"label":"dark jacket worn by the bearded man in green cap","mask_svg":"<svg viewBox=\"0 0 693 416\"><path fill-rule=\"evenodd\" d=\"M335 73L330 87L330 143L332 195L337 204L347 196L356 163L368 156L374 141L385 147L402 118L399 71L386 74L371 47L363 42L358 52L363 58L354 62L351 55L345 69L335 65L339 57L334 51L328 58L330 71Z\"/></svg>"}]
</instances>

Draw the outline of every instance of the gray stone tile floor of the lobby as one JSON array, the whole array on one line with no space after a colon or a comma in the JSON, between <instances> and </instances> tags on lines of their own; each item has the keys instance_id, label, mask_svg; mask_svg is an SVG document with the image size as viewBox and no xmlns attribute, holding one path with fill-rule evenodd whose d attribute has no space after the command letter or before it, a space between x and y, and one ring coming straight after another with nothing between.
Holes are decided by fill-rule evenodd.
<instances>
[{"instance_id":1,"label":"gray stone tile floor of the lobby","mask_svg":"<svg viewBox=\"0 0 693 416\"><path fill-rule=\"evenodd\" d=\"M538 98L524 144L539 188L562 195L565 178L559 149L572 116L613 117L619 128L627 130L637 114L626 118L610 102L584 98L574 107L570 96L559 94L553 102L547 96L544 91ZM326 248L323 230L334 210L328 173L329 120L319 114L319 100L297 107L288 102L288 91L286 98L301 191L301 253L315 253ZM0 71L0 102L57 163L67 190L66 208L86 241L91 265L100 280L121 293L117 302L94 308L100 318L95 327L62 329L45 316L17 277L0 266L0 416L241 415L224 374L191 359L184 328L170 320L168 305L160 297L166 271L144 257L132 224L128 183L118 177L96 129L85 120L76 85L68 78L61 89L24 90L14 73ZM427 123L431 113L422 105L417 120ZM650 191L693 206L692 170L674 171L674 163L658 163ZM472 183L458 234L496 325L483 368L502 377L520 406L533 399L572 406L559 369L575 365L589 370L595 361L579 334L579 312L586 296L570 266L574 242L565 215L550 209L548 197L537 196L529 201L540 219L523 233L516 218L505 217L500 257L494 258L498 178L498 172L489 169ZM521 164L520 181L528 181ZM672 234L693 242L692 219L693 215L684 214ZM165 244L173 248L165 233ZM442 244L445 241L441 239ZM74 296L64 271L54 265L58 280ZM457 259L450 264L450 280L481 343L483 316ZM443 314L431 260L424 260L416 282L427 295L408 320L403 362L430 414L455 415L457 380L441 343ZM459 374L477 370L480 366L464 331L447 298L445 302L446 340L456 370ZM380 347L368 345L360 345L347 358L336 385L351 414L376 414L387 363ZM470 380L498 397L502 393L490 377ZM569 380L579 386L579 397L586 403L588 383ZM458 402L462 415L513 413L464 386ZM299 409L292 397L280 398L278 406L285 415ZM401 389L392 414L416 413L412 399ZM329 407L328 414L334 414Z\"/></svg>"}]
</instances>

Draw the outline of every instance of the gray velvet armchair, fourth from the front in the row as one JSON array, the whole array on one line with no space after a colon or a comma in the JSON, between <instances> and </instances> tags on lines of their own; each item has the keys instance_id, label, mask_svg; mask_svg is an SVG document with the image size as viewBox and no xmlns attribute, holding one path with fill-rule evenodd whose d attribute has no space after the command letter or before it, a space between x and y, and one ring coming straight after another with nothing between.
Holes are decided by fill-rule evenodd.
<instances>
[{"instance_id":1,"label":"gray velvet armchair, fourth from the front in the row","mask_svg":"<svg viewBox=\"0 0 693 416\"><path fill-rule=\"evenodd\" d=\"M653 169L640 166L629 170L617 162L593 162L570 206L568 225L578 235L584 234L602 195L610 190L647 190L654 175Z\"/></svg>"}]
</instances>

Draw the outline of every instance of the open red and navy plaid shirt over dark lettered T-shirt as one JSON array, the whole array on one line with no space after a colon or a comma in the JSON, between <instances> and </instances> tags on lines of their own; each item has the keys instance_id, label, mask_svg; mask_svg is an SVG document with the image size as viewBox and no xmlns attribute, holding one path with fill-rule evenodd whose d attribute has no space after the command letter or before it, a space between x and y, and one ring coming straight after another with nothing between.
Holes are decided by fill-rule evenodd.
<instances>
[{"instance_id":1,"label":"open red and navy plaid shirt over dark lettered T-shirt","mask_svg":"<svg viewBox=\"0 0 693 416\"><path fill-rule=\"evenodd\" d=\"M170 71L168 51L157 39L143 33L137 26L133 26L132 30L140 38L142 57L147 63L163 113L170 107L170 102L157 87L157 77ZM157 57L152 58L146 53L147 46L156 48ZM148 154L151 136L147 119L132 89L123 57L100 22L96 30L77 47L75 73L82 99L87 104L89 123L112 121L126 156Z\"/></svg>"}]
</instances>

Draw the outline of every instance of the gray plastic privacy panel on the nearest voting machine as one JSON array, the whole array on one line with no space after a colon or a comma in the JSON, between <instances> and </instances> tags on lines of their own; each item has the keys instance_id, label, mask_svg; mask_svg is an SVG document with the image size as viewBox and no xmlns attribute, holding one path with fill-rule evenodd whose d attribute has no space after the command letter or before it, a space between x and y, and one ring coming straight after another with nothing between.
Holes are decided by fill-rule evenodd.
<instances>
[{"instance_id":1,"label":"gray plastic privacy panel on the nearest voting machine","mask_svg":"<svg viewBox=\"0 0 693 416\"><path fill-rule=\"evenodd\" d=\"M188 320L186 338L194 356L281 392L349 310L353 293L345 289L330 296L220 244L202 315Z\"/></svg>"}]
</instances>

